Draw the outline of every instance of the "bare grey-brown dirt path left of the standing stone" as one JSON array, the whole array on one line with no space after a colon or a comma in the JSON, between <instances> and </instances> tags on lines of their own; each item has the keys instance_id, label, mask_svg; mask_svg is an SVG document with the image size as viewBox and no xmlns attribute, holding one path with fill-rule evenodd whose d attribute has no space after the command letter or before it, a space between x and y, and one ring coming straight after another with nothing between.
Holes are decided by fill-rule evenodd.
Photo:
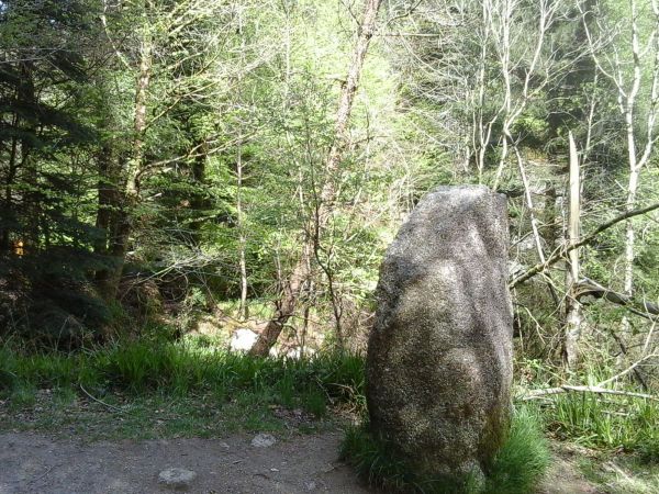
<instances>
[{"instance_id":1,"label":"bare grey-brown dirt path left of the standing stone","mask_svg":"<svg viewBox=\"0 0 659 494\"><path fill-rule=\"evenodd\" d=\"M192 470L192 493L368 493L337 460L339 434L295 436L270 447L250 436L101 441L0 435L0 494L163 493L168 468Z\"/></svg>"}]
</instances>

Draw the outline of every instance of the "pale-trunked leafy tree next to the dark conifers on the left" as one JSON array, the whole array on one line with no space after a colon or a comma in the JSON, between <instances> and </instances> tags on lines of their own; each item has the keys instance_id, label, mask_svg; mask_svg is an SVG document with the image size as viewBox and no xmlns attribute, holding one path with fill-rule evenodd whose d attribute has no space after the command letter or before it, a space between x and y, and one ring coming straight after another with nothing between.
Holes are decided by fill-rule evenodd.
<instances>
[{"instance_id":1,"label":"pale-trunked leafy tree next to the dark conifers on the left","mask_svg":"<svg viewBox=\"0 0 659 494\"><path fill-rule=\"evenodd\" d=\"M220 49L221 30L210 29L210 21L222 20L224 5L205 0L186 0L174 8L169 1L144 0L129 3L124 8L107 5L104 15L105 33L115 47L116 77L133 78L134 100L132 128L123 128L122 136L130 143L123 149L107 155L119 160L118 165L107 166L112 173L103 178L111 184L112 194L100 190L99 199L111 200L100 203L100 210L112 210L108 217L108 243L101 246L115 258L113 269L101 270L97 280L107 299L115 297L125 256L129 250L135 209L141 203L142 183L147 177L157 173L165 165L183 161L192 155L198 157L209 146L194 142L187 145L182 155L170 159L153 154L153 148L176 147L180 141L165 143L159 133L167 132L176 121L176 112L190 99L203 100L215 90L217 80L209 79L212 60ZM222 24L220 24L222 25ZM222 29L226 29L222 25ZM118 32L120 34L118 34ZM127 37L131 43L119 45L118 37ZM164 97L154 98L156 91ZM113 141L114 143L118 139ZM204 149L205 148L205 149ZM158 153L160 154L160 153ZM108 223L101 221L100 224Z\"/></svg>"}]
</instances>

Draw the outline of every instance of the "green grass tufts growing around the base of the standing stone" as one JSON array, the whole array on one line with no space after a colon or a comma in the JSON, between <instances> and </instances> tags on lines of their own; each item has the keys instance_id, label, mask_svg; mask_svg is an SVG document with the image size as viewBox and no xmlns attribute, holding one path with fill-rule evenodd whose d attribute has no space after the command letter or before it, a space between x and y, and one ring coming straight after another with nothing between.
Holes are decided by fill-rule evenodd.
<instances>
[{"instance_id":1,"label":"green grass tufts growing around the base of the standing stone","mask_svg":"<svg viewBox=\"0 0 659 494\"><path fill-rule=\"evenodd\" d=\"M550 464L541 420L527 407L515 411L506 442L496 453L484 482L473 476L427 478L414 472L404 458L384 441L372 437L364 423L346 430L342 458L371 486L403 493L488 493L533 492Z\"/></svg>"}]
</instances>

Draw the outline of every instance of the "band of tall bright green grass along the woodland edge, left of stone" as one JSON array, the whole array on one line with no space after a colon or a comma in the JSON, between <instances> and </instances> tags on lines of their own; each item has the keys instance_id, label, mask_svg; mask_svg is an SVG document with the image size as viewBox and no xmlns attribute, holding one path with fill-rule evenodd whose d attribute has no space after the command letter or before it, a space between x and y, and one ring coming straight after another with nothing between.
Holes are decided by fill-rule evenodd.
<instances>
[{"instance_id":1,"label":"band of tall bright green grass along the woodland edge, left of stone","mask_svg":"<svg viewBox=\"0 0 659 494\"><path fill-rule=\"evenodd\" d=\"M223 401L260 396L315 416L330 405L364 406L364 359L330 353L313 360L264 359L209 345L137 340L85 352L24 353L0 349L5 393L24 389L114 390L134 395L212 393Z\"/></svg>"}]
</instances>

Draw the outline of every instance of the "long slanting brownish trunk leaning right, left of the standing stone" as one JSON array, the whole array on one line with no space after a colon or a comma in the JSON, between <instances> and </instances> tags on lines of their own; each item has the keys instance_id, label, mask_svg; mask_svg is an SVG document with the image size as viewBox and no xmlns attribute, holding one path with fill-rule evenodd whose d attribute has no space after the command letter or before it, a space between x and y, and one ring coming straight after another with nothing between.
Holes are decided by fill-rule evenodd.
<instances>
[{"instance_id":1,"label":"long slanting brownish trunk leaning right, left of the standing stone","mask_svg":"<svg viewBox=\"0 0 659 494\"><path fill-rule=\"evenodd\" d=\"M336 175L340 169L340 160L345 150L355 93L359 86L359 78L361 76L368 46L375 32L380 3L381 0L367 0L366 2L364 19L357 34L353 60L348 69L348 77L340 91L338 109L336 112L336 123L334 126L334 141L325 162L326 178L321 189L320 201L316 206L316 232L323 231L333 211L333 202L336 199ZM314 248L313 246L308 245L309 242L313 242L313 238L310 238L304 243L289 279L283 283L282 295L276 303L275 316L268 322L266 328L259 335L259 338L252 348L252 355L268 355L272 345L277 343L283 326L294 314L295 304L300 297L302 287L311 274L310 256L314 251Z\"/></svg>"}]
</instances>

